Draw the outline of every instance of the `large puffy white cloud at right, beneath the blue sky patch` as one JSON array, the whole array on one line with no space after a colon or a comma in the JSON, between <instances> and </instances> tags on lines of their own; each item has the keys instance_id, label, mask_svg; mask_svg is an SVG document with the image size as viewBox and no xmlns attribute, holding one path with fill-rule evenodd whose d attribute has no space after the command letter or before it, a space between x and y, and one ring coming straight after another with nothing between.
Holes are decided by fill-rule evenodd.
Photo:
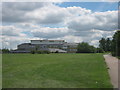
<instances>
[{"instance_id":1,"label":"large puffy white cloud at right, beneath the blue sky patch","mask_svg":"<svg viewBox=\"0 0 120 90\"><path fill-rule=\"evenodd\" d=\"M117 11L95 12L71 19L68 28L78 31L91 29L111 31L117 29L117 19Z\"/></svg>"}]
</instances>

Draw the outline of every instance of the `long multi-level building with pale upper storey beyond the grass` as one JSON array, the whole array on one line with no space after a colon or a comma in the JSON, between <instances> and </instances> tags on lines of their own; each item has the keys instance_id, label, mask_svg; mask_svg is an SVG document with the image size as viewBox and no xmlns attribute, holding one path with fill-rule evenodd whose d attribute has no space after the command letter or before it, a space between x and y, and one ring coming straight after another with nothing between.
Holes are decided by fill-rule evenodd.
<instances>
[{"instance_id":1,"label":"long multi-level building with pale upper storey beyond the grass","mask_svg":"<svg viewBox=\"0 0 120 90\"><path fill-rule=\"evenodd\" d=\"M31 43L23 43L17 46L17 50L12 52L31 52L50 51L61 53L75 53L77 51L77 43L67 43L64 40L31 40Z\"/></svg>"}]
</instances>

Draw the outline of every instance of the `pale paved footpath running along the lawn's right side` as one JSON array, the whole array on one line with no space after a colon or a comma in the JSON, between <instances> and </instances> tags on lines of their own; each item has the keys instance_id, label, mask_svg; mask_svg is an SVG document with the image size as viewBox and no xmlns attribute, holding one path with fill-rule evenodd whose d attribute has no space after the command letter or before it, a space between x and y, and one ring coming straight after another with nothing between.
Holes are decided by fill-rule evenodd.
<instances>
[{"instance_id":1,"label":"pale paved footpath running along the lawn's right side","mask_svg":"<svg viewBox=\"0 0 120 90\"><path fill-rule=\"evenodd\" d=\"M118 60L116 57L113 57L109 54L104 55L105 62L108 66L108 72L110 75L111 83L114 88L120 88L120 80L118 80L118 61L120 64L120 60ZM120 69L119 69L120 70Z\"/></svg>"}]
</instances>

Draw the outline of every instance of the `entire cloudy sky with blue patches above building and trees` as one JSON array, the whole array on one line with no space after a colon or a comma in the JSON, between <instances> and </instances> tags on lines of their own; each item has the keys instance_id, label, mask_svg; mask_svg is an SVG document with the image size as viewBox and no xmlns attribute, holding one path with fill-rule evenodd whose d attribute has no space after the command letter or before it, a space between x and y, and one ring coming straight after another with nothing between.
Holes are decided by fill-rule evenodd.
<instances>
[{"instance_id":1,"label":"entire cloudy sky with blue patches above building and trees","mask_svg":"<svg viewBox=\"0 0 120 90\"><path fill-rule=\"evenodd\" d=\"M2 6L1 6L2 5ZM117 2L3 2L2 46L15 49L31 39L62 39L98 46L117 30Z\"/></svg>"}]
</instances>

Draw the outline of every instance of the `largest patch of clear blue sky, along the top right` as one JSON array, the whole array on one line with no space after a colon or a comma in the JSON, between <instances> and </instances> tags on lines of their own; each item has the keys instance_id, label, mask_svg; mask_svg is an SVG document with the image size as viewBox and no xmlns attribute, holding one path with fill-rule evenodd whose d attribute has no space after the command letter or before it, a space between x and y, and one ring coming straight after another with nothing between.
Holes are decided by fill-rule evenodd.
<instances>
[{"instance_id":1,"label":"largest patch of clear blue sky, along the top right","mask_svg":"<svg viewBox=\"0 0 120 90\"><path fill-rule=\"evenodd\" d=\"M117 2L64 2L61 4L57 4L60 7L73 7L78 6L86 9L90 9L93 12L95 11L112 11L118 9Z\"/></svg>"}]
</instances>

